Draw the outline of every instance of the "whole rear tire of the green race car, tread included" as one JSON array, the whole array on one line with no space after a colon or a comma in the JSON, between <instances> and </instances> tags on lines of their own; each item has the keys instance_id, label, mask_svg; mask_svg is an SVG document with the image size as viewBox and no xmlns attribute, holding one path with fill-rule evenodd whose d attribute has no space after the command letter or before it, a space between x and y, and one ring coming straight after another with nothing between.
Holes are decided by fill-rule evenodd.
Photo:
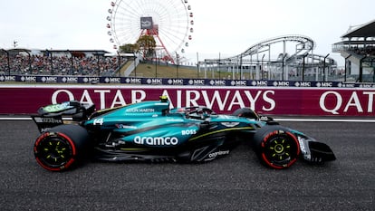
<instances>
[{"instance_id":1,"label":"whole rear tire of the green race car, tread included","mask_svg":"<svg viewBox=\"0 0 375 211\"><path fill-rule=\"evenodd\" d=\"M39 165L51 171L72 168L88 149L89 134L78 125L59 125L43 132L34 143Z\"/></svg>"}]
</instances>

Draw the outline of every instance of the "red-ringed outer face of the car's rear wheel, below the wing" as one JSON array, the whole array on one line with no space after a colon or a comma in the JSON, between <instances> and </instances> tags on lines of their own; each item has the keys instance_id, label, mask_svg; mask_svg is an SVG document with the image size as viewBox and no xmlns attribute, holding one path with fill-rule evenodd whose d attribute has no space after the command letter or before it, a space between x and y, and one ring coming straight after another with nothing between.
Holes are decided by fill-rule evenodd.
<instances>
[{"instance_id":1,"label":"red-ringed outer face of the car's rear wheel, below the wing","mask_svg":"<svg viewBox=\"0 0 375 211\"><path fill-rule=\"evenodd\" d=\"M74 148L71 139L63 134L46 133L36 140L34 147L38 163L49 170L62 170L69 167L74 158Z\"/></svg>"}]
</instances>

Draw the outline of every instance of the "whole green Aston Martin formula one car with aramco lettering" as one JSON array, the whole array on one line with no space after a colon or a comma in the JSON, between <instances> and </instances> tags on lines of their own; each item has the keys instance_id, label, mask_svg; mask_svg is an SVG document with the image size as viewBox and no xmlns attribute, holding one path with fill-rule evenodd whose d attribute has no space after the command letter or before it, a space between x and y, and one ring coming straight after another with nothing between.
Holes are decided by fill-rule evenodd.
<instances>
[{"instance_id":1,"label":"whole green Aston Martin formula one car with aramco lettering","mask_svg":"<svg viewBox=\"0 0 375 211\"><path fill-rule=\"evenodd\" d=\"M168 98L97 110L67 101L42 107L33 116L41 135L36 161L45 169L72 168L88 155L104 161L203 162L249 143L270 168L288 168L298 158L313 164L334 160L326 144L280 126L254 110L216 114L207 107L169 108Z\"/></svg>"}]
</instances>

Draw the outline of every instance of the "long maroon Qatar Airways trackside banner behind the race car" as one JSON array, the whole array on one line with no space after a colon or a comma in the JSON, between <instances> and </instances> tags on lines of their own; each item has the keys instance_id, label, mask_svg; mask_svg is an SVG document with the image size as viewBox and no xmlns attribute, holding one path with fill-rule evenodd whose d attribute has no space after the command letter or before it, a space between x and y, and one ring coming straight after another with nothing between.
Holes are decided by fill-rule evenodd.
<instances>
[{"instance_id":1,"label":"long maroon Qatar Airways trackside banner behind the race car","mask_svg":"<svg viewBox=\"0 0 375 211\"><path fill-rule=\"evenodd\" d=\"M374 116L374 89L194 86L0 87L1 114L32 114L63 101L94 103L98 110L168 96L171 107L207 106L220 113L249 107L272 115Z\"/></svg>"}]
</instances>

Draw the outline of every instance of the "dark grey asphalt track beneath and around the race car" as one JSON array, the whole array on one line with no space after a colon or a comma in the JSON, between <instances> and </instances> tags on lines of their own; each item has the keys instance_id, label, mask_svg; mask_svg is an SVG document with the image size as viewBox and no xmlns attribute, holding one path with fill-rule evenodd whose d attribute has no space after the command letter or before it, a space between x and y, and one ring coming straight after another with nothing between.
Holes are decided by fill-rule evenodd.
<instances>
[{"instance_id":1,"label":"dark grey asphalt track beneath and around the race car","mask_svg":"<svg viewBox=\"0 0 375 211\"><path fill-rule=\"evenodd\" d=\"M337 160L274 170L240 146L205 164L89 162L53 173L34 160L31 120L0 120L0 210L374 210L375 123L283 121Z\"/></svg>"}]
</instances>

